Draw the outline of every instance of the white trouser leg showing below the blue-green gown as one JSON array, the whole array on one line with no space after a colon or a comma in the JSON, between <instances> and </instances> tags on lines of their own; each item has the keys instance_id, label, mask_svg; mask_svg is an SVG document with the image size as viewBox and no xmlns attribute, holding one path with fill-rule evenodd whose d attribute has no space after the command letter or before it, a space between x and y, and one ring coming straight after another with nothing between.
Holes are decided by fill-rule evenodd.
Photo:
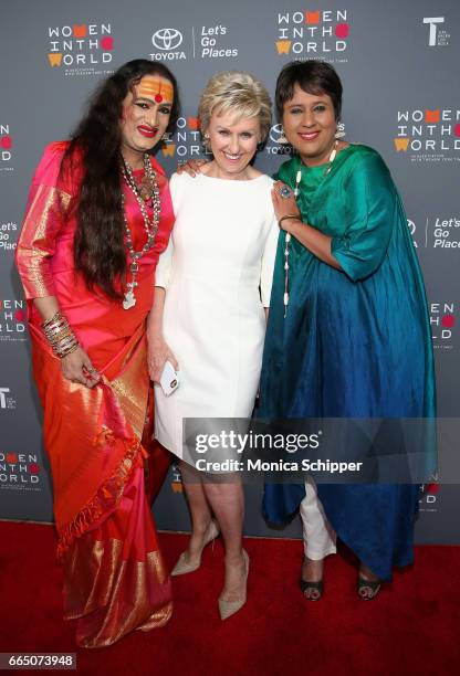
<instances>
[{"instance_id":1,"label":"white trouser leg showing below the blue-green gown","mask_svg":"<svg viewBox=\"0 0 460 676\"><path fill-rule=\"evenodd\" d=\"M305 480L305 497L300 506L303 526L303 547L305 557L318 561L336 552L336 535L317 497L316 484L311 476Z\"/></svg>"}]
</instances>

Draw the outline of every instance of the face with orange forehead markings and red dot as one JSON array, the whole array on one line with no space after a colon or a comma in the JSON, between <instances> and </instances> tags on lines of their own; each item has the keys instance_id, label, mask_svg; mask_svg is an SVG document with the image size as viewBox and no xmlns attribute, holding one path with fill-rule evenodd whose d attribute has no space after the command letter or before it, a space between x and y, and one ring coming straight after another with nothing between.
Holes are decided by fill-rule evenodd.
<instances>
[{"instance_id":1,"label":"face with orange forehead markings and red dot","mask_svg":"<svg viewBox=\"0 0 460 676\"><path fill-rule=\"evenodd\" d=\"M144 152L165 134L174 101L169 80L145 75L123 102L122 154L133 168L143 166Z\"/></svg>"}]
</instances>

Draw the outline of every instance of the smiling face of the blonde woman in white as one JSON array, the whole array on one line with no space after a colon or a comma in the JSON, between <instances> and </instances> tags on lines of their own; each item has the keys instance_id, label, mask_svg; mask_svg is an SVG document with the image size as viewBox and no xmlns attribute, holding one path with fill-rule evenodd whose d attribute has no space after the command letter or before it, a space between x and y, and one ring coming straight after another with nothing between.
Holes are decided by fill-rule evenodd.
<instances>
[{"instance_id":1,"label":"smiling face of the blonde woman in white","mask_svg":"<svg viewBox=\"0 0 460 676\"><path fill-rule=\"evenodd\" d=\"M258 117L238 117L233 113L212 113L209 127L209 146L213 155L216 178L245 180L251 178L249 162L261 140Z\"/></svg>"}]
</instances>

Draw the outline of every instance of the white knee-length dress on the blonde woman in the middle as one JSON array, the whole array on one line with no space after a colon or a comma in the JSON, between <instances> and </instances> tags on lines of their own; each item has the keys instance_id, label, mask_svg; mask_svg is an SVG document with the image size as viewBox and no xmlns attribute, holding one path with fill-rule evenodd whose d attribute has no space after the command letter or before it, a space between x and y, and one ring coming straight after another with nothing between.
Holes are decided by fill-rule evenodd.
<instances>
[{"instance_id":1,"label":"white knee-length dress on the blonde woman in the middle","mask_svg":"<svg viewBox=\"0 0 460 676\"><path fill-rule=\"evenodd\" d=\"M179 362L170 397L155 385L155 435L182 457L184 418L251 415L280 229L273 181L175 173L176 223L156 271L164 337Z\"/></svg>"}]
</instances>

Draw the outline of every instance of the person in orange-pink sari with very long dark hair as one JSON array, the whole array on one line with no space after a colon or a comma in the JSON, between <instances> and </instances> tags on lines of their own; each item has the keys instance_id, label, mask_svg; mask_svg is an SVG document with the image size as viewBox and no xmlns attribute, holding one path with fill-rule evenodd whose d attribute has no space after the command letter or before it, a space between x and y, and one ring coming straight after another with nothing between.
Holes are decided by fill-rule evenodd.
<instances>
[{"instance_id":1,"label":"person in orange-pink sari with very long dark hair","mask_svg":"<svg viewBox=\"0 0 460 676\"><path fill-rule=\"evenodd\" d=\"M164 625L170 582L145 488L146 320L174 214L149 155L179 114L176 80L132 61L33 177L17 264L44 409L64 617L109 645Z\"/></svg>"}]
</instances>

